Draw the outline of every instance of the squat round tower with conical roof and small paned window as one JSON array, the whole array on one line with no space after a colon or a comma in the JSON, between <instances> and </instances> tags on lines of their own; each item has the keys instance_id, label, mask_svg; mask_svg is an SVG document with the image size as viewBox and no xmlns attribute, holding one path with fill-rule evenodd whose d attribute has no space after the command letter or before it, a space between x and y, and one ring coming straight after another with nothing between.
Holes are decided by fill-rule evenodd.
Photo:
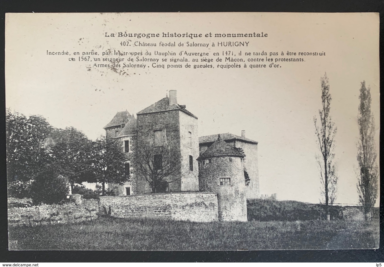
<instances>
[{"instance_id":1,"label":"squat round tower with conical roof and small paned window","mask_svg":"<svg viewBox=\"0 0 384 267\"><path fill-rule=\"evenodd\" d=\"M199 191L217 193L220 221L247 221L243 157L218 135L197 159Z\"/></svg>"}]
</instances>

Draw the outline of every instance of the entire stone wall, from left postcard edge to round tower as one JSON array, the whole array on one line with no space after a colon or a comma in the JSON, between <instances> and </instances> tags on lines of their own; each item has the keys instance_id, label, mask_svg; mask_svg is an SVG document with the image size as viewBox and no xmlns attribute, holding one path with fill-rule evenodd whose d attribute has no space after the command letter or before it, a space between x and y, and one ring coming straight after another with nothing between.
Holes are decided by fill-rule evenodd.
<instances>
[{"instance_id":1,"label":"entire stone wall, from left postcard edge to round tower","mask_svg":"<svg viewBox=\"0 0 384 267\"><path fill-rule=\"evenodd\" d=\"M17 199L13 199L17 201ZM89 221L100 215L116 218L154 218L181 221L218 221L216 193L180 192L83 199L71 195L64 204L8 208L11 225L36 226Z\"/></svg>"}]
</instances>

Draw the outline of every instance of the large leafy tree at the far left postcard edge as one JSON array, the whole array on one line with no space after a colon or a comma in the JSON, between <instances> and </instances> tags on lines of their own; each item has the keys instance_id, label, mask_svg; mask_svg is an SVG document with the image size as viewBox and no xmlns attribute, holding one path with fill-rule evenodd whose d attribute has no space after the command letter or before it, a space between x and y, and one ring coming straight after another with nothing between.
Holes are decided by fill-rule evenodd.
<instances>
[{"instance_id":1,"label":"large leafy tree at the far left postcard edge","mask_svg":"<svg viewBox=\"0 0 384 267\"><path fill-rule=\"evenodd\" d=\"M6 111L7 181L11 188L28 185L28 181L46 164L43 145L51 125L41 116ZM18 183L17 181L20 181ZM19 188L20 189L20 188ZM12 189L10 194L15 193Z\"/></svg>"}]
</instances>

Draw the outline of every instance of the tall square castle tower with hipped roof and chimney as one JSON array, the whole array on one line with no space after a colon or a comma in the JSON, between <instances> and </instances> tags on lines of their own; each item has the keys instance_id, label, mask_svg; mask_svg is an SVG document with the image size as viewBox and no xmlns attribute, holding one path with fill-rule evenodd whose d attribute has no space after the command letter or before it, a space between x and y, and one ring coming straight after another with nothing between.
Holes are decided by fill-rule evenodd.
<instances>
[{"instance_id":1,"label":"tall square castle tower with hipped roof and chimney","mask_svg":"<svg viewBox=\"0 0 384 267\"><path fill-rule=\"evenodd\" d=\"M167 184L161 186L160 191L156 190L157 193L199 190L197 117L185 109L185 105L177 104L176 93L176 90L170 90L169 97L137 112L138 151L162 147L177 159L174 162L177 171L164 179ZM166 164L161 155L151 157L156 157L154 162ZM145 177L137 177L138 194L152 193L152 186Z\"/></svg>"}]
</instances>

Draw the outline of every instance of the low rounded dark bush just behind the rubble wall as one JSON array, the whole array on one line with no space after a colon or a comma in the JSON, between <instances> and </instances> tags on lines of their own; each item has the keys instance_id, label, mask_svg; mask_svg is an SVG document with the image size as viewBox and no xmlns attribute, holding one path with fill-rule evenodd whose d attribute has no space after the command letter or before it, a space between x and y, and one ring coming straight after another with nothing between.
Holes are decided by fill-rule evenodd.
<instances>
[{"instance_id":1,"label":"low rounded dark bush just behind the rubble wall","mask_svg":"<svg viewBox=\"0 0 384 267\"><path fill-rule=\"evenodd\" d=\"M31 184L31 198L34 204L59 203L68 194L68 180L60 175L60 167L47 165L36 174Z\"/></svg>"}]
</instances>

